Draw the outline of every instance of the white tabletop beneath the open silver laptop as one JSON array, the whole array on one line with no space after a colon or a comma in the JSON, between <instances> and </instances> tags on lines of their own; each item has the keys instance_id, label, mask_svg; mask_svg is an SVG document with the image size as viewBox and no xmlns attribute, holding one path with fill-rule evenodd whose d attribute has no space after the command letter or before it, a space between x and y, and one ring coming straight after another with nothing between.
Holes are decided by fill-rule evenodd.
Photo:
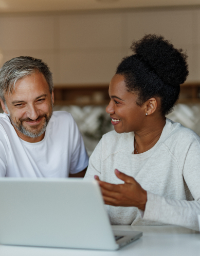
<instances>
[{"instance_id":1,"label":"white tabletop beneath the open silver laptop","mask_svg":"<svg viewBox=\"0 0 200 256\"><path fill-rule=\"evenodd\" d=\"M0 245L1 256L200 256L200 234L176 226L115 226L116 230L142 231L143 236L118 251Z\"/></svg>"}]
</instances>

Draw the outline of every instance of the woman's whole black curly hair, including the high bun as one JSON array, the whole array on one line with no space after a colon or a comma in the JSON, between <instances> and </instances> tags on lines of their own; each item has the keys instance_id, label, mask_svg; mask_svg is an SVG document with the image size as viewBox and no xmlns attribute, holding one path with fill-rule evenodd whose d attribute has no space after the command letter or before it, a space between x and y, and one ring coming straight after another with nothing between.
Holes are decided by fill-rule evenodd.
<instances>
[{"instance_id":1,"label":"woman's whole black curly hair, including the high bun","mask_svg":"<svg viewBox=\"0 0 200 256\"><path fill-rule=\"evenodd\" d=\"M169 114L188 76L188 56L162 36L151 34L133 41L131 50L134 54L122 59L116 74L123 75L127 90L137 94L139 106L159 97L161 114Z\"/></svg>"}]
</instances>

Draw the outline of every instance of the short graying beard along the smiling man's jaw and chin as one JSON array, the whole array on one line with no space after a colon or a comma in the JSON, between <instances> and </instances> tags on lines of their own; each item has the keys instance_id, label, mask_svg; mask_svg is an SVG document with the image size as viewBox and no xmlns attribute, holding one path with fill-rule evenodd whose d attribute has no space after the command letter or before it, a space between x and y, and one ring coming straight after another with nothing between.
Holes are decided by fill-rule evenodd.
<instances>
[{"instance_id":1,"label":"short graying beard along the smiling man's jaw and chin","mask_svg":"<svg viewBox=\"0 0 200 256\"><path fill-rule=\"evenodd\" d=\"M43 126L41 127L40 131L35 131L35 132L31 132L29 131L26 127L23 126L22 122L20 121L20 124L19 123L15 123L13 122L11 116L9 115L9 118L10 118L10 121L11 123L14 125L14 127L19 131L21 132L22 134L30 137L30 138L38 138L40 137L46 130L46 127L47 127L47 124L50 120L52 116L52 111L49 115L49 117L47 117L46 115L44 115L43 117L45 117L45 123L43 124Z\"/></svg>"}]
</instances>

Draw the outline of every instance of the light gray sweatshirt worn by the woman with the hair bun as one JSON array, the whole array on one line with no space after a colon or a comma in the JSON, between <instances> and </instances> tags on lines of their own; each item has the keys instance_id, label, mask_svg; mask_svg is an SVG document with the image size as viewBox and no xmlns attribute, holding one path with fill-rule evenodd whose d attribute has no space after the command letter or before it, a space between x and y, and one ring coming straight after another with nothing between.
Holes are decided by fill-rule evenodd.
<instances>
[{"instance_id":1,"label":"light gray sweatshirt worn by the woman with the hair bun","mask_svg":"<svg viewBox=\"0 0 200 256\"><path fill-rule=\"evenodd\" d=\"M137 207L106 205L112 225L179 225L199 230L200 138L192 130L169 119L156 145L134 154L134 133L103 135L84 179L98 175L102 181L120 184L114 170L124 172L148 191L144 212Z\"/></svg>"}]
</instances>

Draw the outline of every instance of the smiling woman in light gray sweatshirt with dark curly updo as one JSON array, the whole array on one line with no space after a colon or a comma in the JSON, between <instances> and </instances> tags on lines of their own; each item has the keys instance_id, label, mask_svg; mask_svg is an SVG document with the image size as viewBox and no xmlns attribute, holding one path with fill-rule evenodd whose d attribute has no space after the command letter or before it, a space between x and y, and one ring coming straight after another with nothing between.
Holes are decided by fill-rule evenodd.
<instances>
[{"instance_id":1,"label":"smiling woman in light gray sweatshirt with dark curly updo","mask_svg":"<svg viewBox=\"0 0 200 256\"><path fill-rule=\"evenodd\" d=\"M102 137L85 179L98 180L112 225L198 230L200 138L166 119L188 75L187 56L156 35L131 49L109 88L115 131Z\"/></svg>"}]
</instances>

